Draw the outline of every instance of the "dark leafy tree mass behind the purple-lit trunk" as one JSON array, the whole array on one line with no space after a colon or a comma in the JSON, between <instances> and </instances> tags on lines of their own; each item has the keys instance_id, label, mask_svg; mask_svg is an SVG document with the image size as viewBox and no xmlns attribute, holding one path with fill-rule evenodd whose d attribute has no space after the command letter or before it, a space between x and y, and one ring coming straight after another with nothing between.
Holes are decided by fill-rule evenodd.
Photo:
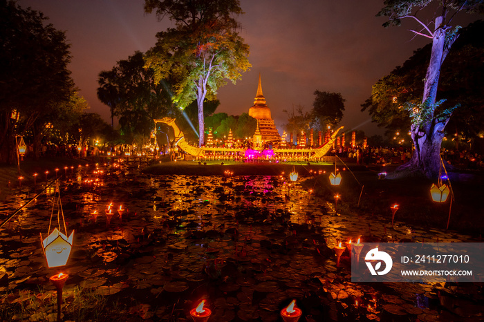
<instances>
[{"instance_id":1,"label":"dark leafy tree mass behind the purple-lit trunk","mask_svg":"<svg viewBox=\"0 0 484 322\"><path fill-rule=\"evenodd\" d=\"M460 107L452 113L446 126L446 135L452 139L478 138L484 129L484 21L479 20L460 30L460 35L447 55L440 70L438 96L445 98L443 107ZM373 122L387 128L389 137L409 129L411 120L402 104L418 104L422 99L431 44L420 48L407 61L382 77L373 85L371 97L362 104ZM393 99L394 97L394 99ZM406 135L406 134L405 134Z\"/></svg>"}]
</instances>

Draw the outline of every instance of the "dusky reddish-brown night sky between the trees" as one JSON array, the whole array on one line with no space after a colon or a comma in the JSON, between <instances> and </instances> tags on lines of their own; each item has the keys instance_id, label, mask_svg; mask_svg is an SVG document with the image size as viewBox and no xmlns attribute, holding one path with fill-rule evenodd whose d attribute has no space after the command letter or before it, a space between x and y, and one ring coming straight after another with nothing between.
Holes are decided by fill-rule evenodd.
<instances>
[{"instance_id":1,"label":"dusky reddish-brown night sky between the trees","mask_svg":"<svg viewBox=\"0 0 484 322\"><path fill-rule=\"evenodd\" d=\"M89 112L109 120L109 108L96 96L97 75L136 50L146 52L156 32L171 23L146 15L142 0L19 0L44 12L55 28L66 31L73 55L70 69L75 84L91 106ZM240 35L250 45L250 71L218 91L217 112L248 112L261 74L263 94L279 133L287 120L283 110L302 105L310 111L315 90L341 93L346 100L341 122L346 131L382 133L371 124L360 104L371 86L411 57L430 39L413 37L418 28L407 19L400 27L383 28L375 17L381 0L241 0ZM467 26L476 15L460 14Z\"/></svg>"}]
</instances>

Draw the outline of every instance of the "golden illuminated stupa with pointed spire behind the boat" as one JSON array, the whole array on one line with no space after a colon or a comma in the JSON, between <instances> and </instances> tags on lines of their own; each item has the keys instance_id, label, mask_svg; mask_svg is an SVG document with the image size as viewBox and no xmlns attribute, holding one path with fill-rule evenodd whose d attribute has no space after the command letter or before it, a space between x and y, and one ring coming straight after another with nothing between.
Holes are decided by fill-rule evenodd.
<instances>
[{"instance_id":1,"label":"golden illuminated stupa with pointed spire behind the boat","mask_svg":"<svg viewBox=\"0 0 484 322\"><path fill-rule=\"evenodd\" d=\"M254 117L259 126L259 131L262 135L262 142L281 142L281 135L274 125L274 121L270 116L270 108L266 105L266 98L262 94L261 75L259 74L259 86L257 87L257 94L255 95L254 106L249 108L249 115Z\"/></svg>"}]
</instances>

